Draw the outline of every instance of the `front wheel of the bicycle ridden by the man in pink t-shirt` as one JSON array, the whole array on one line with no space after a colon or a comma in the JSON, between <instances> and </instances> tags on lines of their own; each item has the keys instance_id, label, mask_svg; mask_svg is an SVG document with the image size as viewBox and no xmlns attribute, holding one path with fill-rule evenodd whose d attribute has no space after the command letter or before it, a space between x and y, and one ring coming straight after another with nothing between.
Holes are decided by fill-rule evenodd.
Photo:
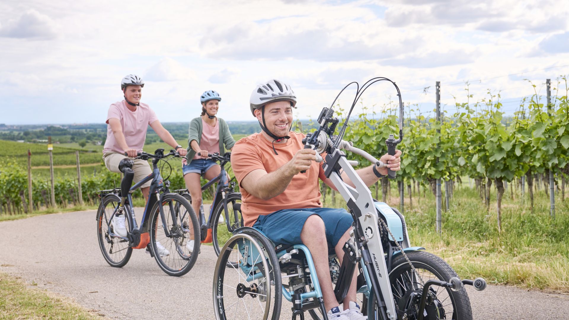
<instances>
[{"instance_id":1,"label":"front wheel of the bicycle ridden by the man in pink t-shirt","mask_svg":"<svg viewBox=\"0 0 569 320\"><path fill-rule=\"evenodd\" d=\"M154 204L151 211L149 236L152 254L164 272L170 276L183 276L192 269L200 252L200 241L193 241L191 245L190 237L199 234L197 217L191 204L179 194L164 194L162 209L163 217L159 203ZM185 217L185 221L181 217Z\"/></svg>"}]
</instances>

